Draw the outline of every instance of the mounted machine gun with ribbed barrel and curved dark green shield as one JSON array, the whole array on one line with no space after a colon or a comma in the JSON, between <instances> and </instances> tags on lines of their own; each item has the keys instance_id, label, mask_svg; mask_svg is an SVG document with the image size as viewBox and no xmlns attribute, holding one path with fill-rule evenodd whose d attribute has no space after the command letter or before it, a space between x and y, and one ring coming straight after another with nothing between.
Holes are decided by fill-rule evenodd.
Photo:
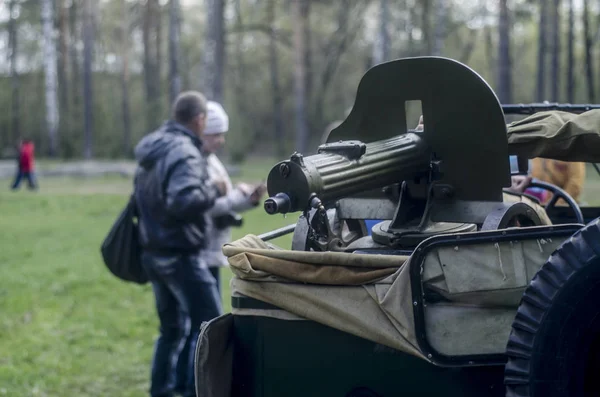
<instances>
[{"instance_id":1,"label":"mounted machine gun with ribbed barrel and curved dark green shield","mask_svg":"<svg viewBox=\"0 0 600 397\"><path fill-rule=\"evenodd\" d=\"M414 100L422 131L407 126ZM364 75L352 111L317 154L272 168L264 208L303 213L292 249L411 249L433 234L496 230L515 218L540 224L529 205L504 202L508 186L506 123L492 89L456 61L410 58ZM365 219L382 220L372 238Z\"/></svg>"}]
</instances>

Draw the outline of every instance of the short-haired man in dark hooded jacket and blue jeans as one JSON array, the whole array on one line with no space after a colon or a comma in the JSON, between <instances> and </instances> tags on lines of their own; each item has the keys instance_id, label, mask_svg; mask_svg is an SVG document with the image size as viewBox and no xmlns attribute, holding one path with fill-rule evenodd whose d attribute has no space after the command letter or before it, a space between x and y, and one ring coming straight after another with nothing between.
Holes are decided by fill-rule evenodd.
<instances>
[{"instance_id":1,"label":"short-haired man in dark hooded jacket and blue jeans","mask_svg":"<svg viewBox=\"0 0 600 397\"><path fill-rule=\"evenodd\" d=\"M202 259L205 212L220 195L209 182L200 150L205 123L204 96L184 92L173 105L172 120L135 148L142 263L160 320L152 397L175 392L195 396L194 350L200 324L222 313L217 285Z\"/></svg>"}]
</instances>

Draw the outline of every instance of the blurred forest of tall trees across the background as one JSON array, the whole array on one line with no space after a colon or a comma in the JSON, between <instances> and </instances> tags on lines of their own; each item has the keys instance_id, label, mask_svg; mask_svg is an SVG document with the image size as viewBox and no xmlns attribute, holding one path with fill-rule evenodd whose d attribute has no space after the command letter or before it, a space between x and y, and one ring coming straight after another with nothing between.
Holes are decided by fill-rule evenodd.
<instances>
[{"instance_id":1,"label":"blurred forest of tall trees across the background","mask_svg":"<svg viewBox=\"0 0 600 397\"><path fill-rule=\"evenodd\" d=\"M439 55L502 103L594 103L600 3L588 0L3 0L0 156L130 159L181 90L222 102L224 156L314 151L362 75Z\"/></svg>"}]
</instances>

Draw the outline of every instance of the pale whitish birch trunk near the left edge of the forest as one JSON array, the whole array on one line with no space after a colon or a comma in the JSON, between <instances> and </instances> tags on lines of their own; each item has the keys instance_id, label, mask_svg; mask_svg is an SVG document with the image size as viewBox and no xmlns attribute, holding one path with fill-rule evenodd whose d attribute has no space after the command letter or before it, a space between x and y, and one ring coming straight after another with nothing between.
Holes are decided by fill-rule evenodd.
<instances>
[{"instance_id":1,"label":"pale whitish birch trunk near the left edge of the forest","mask_svg":"<svg viewBox=\"0 0 600 397\"><path fill-rule=\"evenodd\" d=\"M42 1L42 29L44 32L44 77L46 96L46 127L48 154L55 157L58 151L58 76L56 72L56 47L54 43L54 16L52 0Z\"/></svg>"}]
</instances>

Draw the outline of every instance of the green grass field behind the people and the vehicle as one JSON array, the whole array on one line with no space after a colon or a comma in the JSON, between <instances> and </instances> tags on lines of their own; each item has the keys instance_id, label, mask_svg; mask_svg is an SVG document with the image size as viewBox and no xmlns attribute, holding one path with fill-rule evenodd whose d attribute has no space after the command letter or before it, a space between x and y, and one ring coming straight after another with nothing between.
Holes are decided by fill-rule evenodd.
<instances>
[{"instance_id":1,"label":"green grass field behind the people and the vehicle","mask_svg":"<svg viewBox=\"0 0 600 397\"><path fill-rule=\"evenodd\" d=\"M240 178L262 179L272 164L246 166ZM588 176L583 200L599 204L600 183ZM99 253L131 181L40 182L36 193L0 188L0 396L146 396L158 330L152 291L113 277ZM244 218L234 238L295 217L259 207ZM289 236L277 242L289 246Z\"/></svg>"}]
</instances>

